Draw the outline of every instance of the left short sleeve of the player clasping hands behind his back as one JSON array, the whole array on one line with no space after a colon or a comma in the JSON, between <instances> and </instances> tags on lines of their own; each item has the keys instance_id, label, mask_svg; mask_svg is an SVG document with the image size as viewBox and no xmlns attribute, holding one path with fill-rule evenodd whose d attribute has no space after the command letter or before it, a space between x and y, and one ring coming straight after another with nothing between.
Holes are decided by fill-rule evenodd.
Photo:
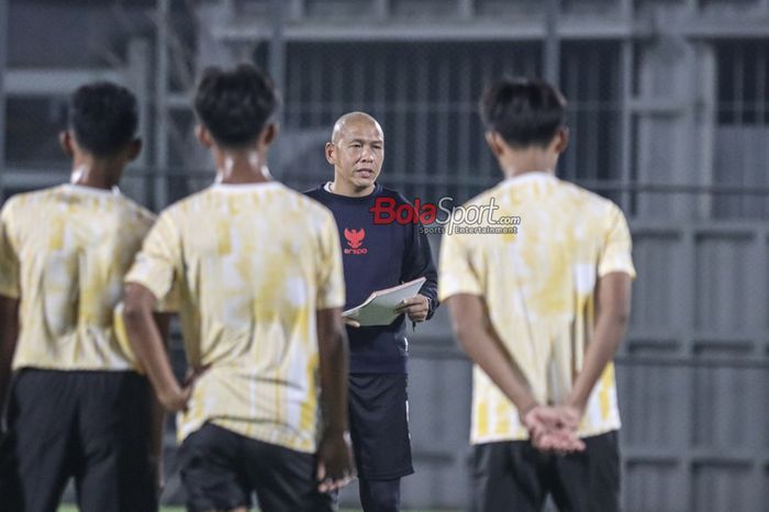
<instances>
[{"instance_id":1,"label":"left short sleeve of the player clasping hands behind his back","mask_svg":"<svg viewBox=\"0 0 769 512\"><path fill-rule=\"evenodd\" d=\"M464 234L445 234L438 255L438 299L443 302L452 296L483 294L481 280L472 267L470 254L464 244Z\"/></svg>"}]
</instances>

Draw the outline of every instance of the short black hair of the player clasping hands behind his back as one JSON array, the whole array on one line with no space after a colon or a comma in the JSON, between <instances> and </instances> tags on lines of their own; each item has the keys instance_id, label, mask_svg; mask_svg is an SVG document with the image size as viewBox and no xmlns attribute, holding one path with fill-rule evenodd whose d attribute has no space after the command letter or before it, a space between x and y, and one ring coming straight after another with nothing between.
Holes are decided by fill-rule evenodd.
<instances>
[{"instance_id":1,"label":"short black hair of the player clasping hands behind his back","mask_svg":"<svg viewBox=\"0 0 769 512\"><path fill-rule=\"evenodd\" d=\"M539 79L505 78L489 86L480 100L487 130L512 147L547 146L566 126L566 99Z\"/></svg>"}]
</instances>

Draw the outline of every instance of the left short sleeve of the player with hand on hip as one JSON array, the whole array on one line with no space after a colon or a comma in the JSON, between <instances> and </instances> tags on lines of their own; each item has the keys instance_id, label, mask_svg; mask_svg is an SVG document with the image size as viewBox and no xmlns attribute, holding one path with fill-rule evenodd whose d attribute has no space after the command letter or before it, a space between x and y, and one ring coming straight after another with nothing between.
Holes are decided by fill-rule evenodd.
<instances>
[{"instance_id":1,"label":"left short sleeve of the player with hand on hip","mask_svg":"<svg viewBox=\"0 0 769 512\"><path fill-rule=\"evenodd\" d=\"M179 231L171 216L164 212L144 240L125 282L135 282L152 291L159 311L174 311L178 307L175 285L181 267Z\"/></svg>"}]
</instances>

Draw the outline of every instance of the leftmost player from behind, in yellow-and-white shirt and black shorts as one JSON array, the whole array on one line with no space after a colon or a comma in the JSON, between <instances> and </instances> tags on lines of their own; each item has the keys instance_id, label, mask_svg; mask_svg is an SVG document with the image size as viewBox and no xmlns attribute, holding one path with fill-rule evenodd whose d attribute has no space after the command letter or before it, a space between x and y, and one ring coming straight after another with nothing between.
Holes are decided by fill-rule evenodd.
<instances>
[{"instance_id":1,"label":"leftmost player from behind, in yellow-and-white shirt and black shorts","mask_svg":"<svg viewBox=\"0 0 769 512\"><path fill-rule=\"evenodd\" d=\"M2 510L54 512L69 477L83 512L157 510L152 389L113 324L154 222L116 188L141 149L136 126L126 89L79 88L60 135L71 182L14 196L0 213L1 398L14 371Z\"/></svg>"}]
</instances>

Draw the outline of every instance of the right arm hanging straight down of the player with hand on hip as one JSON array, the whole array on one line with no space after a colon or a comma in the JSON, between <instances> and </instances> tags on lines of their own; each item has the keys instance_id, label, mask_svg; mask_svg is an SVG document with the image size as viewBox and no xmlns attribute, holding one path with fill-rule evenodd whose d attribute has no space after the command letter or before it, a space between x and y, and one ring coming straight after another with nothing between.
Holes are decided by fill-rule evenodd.
<instances>
[{"instance_id":1,"label":"right arm hanging straight down of the player with hand on hip","mask_svg":"<svg viewBox=\"0 0 769 512\"><path fill-rule=\"evenodd\" d=\"M342 309L316 312L323 430L317 447L321 492L337 489L353 476L347 425L347 334Z\"/></svg>"}]
</instances>

